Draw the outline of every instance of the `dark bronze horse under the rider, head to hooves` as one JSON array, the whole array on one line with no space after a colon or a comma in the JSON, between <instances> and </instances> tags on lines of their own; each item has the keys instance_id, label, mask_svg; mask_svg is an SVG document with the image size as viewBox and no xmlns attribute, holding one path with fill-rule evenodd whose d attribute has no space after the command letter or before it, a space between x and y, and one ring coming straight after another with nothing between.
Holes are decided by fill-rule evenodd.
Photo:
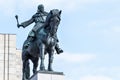
<instances>
[{"instance_id":1,"label":"dark bronze horse under the rider, head to hooves","mask_svg":"<svg viewBox=\"0 0 120 80\"><path fill-rule=\"evenodd\" d=\"M34 41L28 47L25 47L27 40L22 48L23 61L23 80L28 80L30 77L29 59L33 62L33 73L36 73L38 67L38 60L40 61L40 70L44 71L45 54L48 53L48 71L53 71L53 55L55 45L57 44L56 33L60 23L61 10L53 9L49 12L45 24L37 30Z\"/></svg>"}]
</instances>

